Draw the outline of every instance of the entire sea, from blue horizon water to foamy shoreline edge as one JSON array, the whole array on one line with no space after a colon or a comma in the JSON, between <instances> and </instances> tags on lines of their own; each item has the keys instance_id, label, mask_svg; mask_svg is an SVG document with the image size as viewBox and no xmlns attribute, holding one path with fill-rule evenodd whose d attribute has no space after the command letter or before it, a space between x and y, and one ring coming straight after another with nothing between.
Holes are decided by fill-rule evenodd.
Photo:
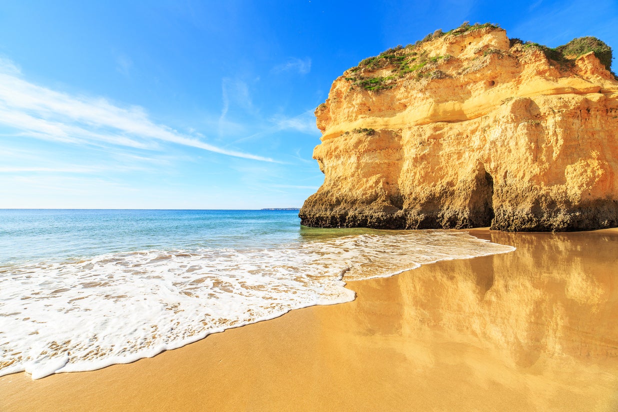
<instances>
[{"instance_id":1,"label":"entire sea, from blue horizon water to foamy shoreline edge","mask_svg":"<svg viewBox=\"0 0 618 412\"><path fill-rule=\"evenodd\" d=\"M347 280L514 250L448 230L311 229L296 211L0 210L0 376L128 363Z\"/></svg>"}]
</instances>

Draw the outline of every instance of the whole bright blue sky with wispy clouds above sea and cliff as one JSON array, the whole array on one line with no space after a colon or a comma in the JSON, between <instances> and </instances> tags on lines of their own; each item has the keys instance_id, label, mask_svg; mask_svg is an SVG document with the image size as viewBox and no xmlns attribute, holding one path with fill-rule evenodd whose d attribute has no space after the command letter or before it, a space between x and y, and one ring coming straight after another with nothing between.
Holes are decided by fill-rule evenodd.
<instances>
[{"instance_id":1,"label":"whole bright blue sky with wispy clouds above sea and cliff","mask_svg":"<svg viewBox=\"0 0 618 412\"><path fill-rule=\"evenodd\" d=\"M464 20L618 51L610 0L2 2L0 208L300 207L332 80Z\"/></svg>"}]
</instances>

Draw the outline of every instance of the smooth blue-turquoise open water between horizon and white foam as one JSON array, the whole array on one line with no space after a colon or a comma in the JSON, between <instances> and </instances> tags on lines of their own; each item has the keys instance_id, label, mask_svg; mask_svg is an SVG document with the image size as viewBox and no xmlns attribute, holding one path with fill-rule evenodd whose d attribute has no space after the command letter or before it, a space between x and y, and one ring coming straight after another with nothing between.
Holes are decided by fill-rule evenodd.
<instances>
[{"instance_id":1,"label":"smooth blue-turquoise open water between horizon and white foam","mask_svg":"<svg viewBox=\"0 0 618 412\"><path fill-rule=\"evenodd\" d=\"M298 211L0 209L0 264L298 240Z\"/></svg>"}]
</instances>

